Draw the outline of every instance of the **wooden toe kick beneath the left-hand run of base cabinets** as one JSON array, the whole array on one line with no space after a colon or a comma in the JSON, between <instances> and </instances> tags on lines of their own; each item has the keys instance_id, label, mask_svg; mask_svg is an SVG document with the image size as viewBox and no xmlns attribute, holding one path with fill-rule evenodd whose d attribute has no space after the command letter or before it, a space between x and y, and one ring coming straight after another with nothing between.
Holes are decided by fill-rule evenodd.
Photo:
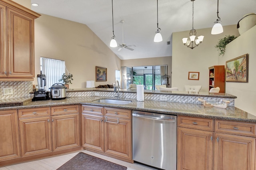
<instances>
[{"instance_id":1,"label":"wooden toe kick beneath the left-hand run of base cabinets","mask_svg":"<svg viewBox=\"0 0 256 170\"><path fill-rule=\"evenodd\" d=\"M25 157L20 157L20 158L3 160L3 161L0 161L0 166L5 166L5 165L9 165L9 164L16 164L16 163L35 160L35 159L40 159L40 158L46 158L46 157L49 157L49 156L56 156L56 155L59 155L59 154L65 154L65 153L68 153L68 152L74 152L74 151L83 150L83 149L84 148L82 146L78 146L78 147L75 147L75 148L69 148L69 149L65 149L65 150L58 150L58 151L48 152L48 153L44 153L44 154L36 154L36 155L32 155L32 156L25 156Z\"/></svg>"}]
</instances>

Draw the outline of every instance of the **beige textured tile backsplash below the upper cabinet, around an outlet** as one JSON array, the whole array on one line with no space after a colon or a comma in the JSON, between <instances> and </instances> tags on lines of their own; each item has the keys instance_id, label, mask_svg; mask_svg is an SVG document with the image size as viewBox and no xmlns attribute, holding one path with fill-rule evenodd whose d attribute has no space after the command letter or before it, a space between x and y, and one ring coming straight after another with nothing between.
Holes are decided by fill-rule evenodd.
<instances>
[{"instance_id":1,"label":"beige textured tile backsplash below the upper cabinet, around an outlet","mask_svg":"<svg viewBox=\"0 0 256 170\"><path fill-rule=\"evenodd\" d=\"M4 95L3 88L6 87L12 87L12 95ZM0 81L0 99L33 96L29 94L31 91L33 91L32 81Z\"/></svg>"}]
</instances>

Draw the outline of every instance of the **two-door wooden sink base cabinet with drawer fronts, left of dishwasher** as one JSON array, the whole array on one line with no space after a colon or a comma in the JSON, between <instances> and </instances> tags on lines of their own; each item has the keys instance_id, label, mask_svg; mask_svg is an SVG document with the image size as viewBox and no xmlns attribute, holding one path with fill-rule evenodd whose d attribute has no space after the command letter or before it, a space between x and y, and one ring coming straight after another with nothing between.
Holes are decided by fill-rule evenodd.
<instances>
[{"instance_id":1,"label":"two-door wooden sink base cabinet with drawer fronts, left of dishwasher","mask_svg":"<svg viewBox=\"0 0 256 170\"><path fill-rule=\"evenodd\" d=\"M132 162L131 111L82 105L82 145Z\"/></svg>"}]
</instances>

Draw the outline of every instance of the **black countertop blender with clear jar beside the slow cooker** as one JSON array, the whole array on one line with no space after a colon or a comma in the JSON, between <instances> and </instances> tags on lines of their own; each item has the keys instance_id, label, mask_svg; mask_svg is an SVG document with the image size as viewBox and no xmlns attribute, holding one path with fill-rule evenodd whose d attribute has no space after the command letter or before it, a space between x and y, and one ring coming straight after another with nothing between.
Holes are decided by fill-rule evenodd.
<instances>
[{"instance_id":1,"label":"black countertop blender with clear jar beside the slow cooker","mask_svg":"<svg viewBox=\"0 0 256 170\"><path fill-rule=\"evenodd\" d=\"M38 74L37 75L37 84L38 84L38 91L34 92L34 98L32 101L38 100L49 100L50 99L50 91L46 91L46 76L45 74Z\"/></svg>"}]
</instances>

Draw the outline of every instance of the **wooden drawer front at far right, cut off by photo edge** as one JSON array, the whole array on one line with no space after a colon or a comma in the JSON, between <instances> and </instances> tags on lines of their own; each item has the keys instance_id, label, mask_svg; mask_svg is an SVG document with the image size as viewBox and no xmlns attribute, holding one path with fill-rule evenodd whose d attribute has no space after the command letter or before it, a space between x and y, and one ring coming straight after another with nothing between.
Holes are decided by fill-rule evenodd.
<instances>
[{"instance_id":1,"label":"wooden drawer front at far right, cut off by photo edge","mask_svg":"<svg viewBox=\"0 0 256 170\"><path fill-rule=\"evenodd\" d=\"M216 120L215 131L246 136L256 136L256 125L253 123Z\"/></svg>"}]
</instances>

